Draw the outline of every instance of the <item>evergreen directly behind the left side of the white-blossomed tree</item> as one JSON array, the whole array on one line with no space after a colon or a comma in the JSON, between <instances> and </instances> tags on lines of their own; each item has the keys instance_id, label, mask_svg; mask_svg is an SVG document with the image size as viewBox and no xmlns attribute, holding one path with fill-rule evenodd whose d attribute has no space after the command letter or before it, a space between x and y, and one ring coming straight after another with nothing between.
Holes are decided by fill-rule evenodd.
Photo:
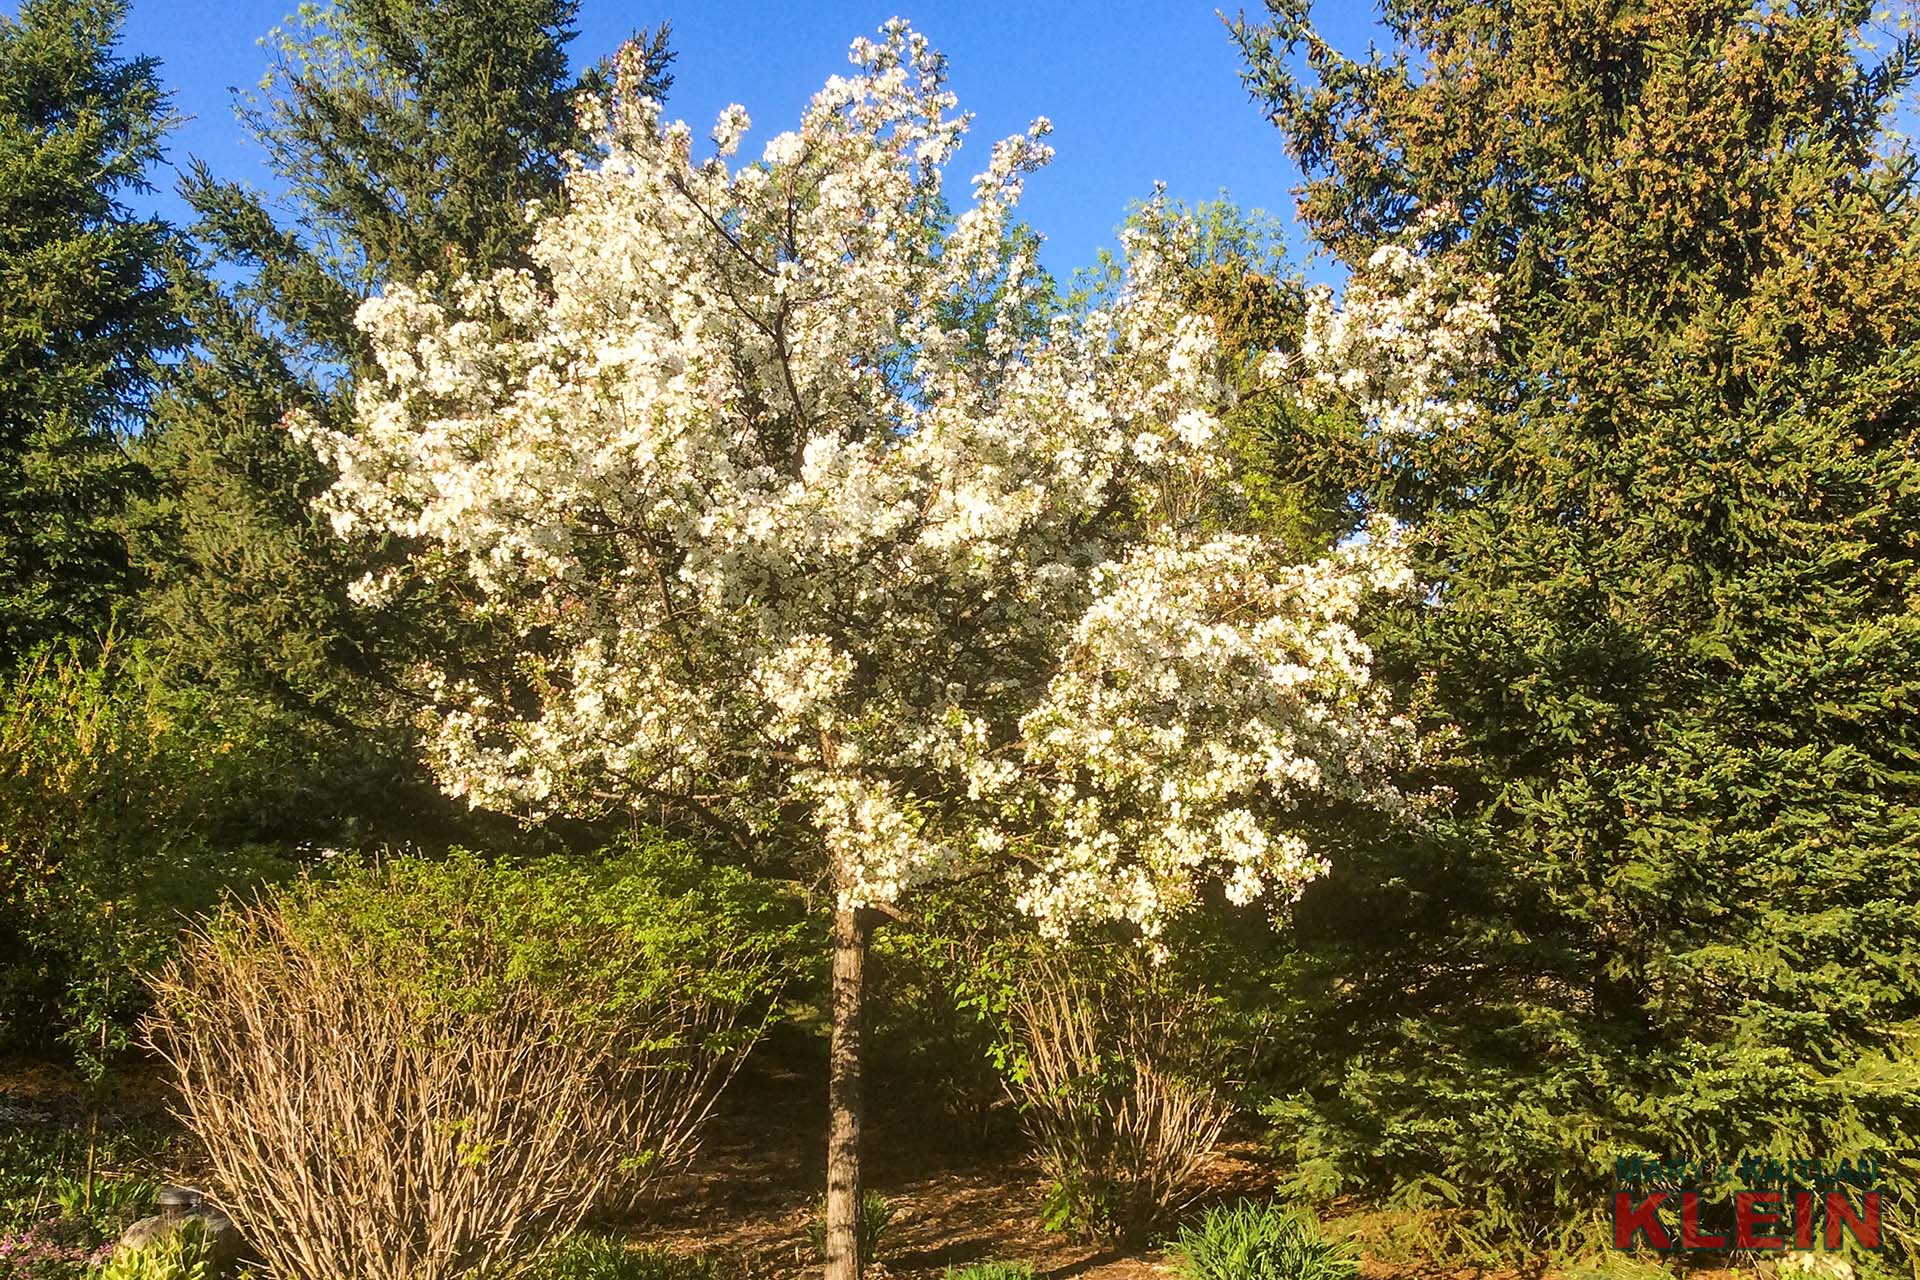
<instances>
[{"instance_id":1,"label":"evergreen directly behind the left side of the white-blossomed tree","mask_svg":"<svg viewBox=\"0 0 1920 1280\"><path fill-rule=\"evenodd\" d=\"M407 708L386 672L430 614L369 614L348 585L378 547L344 547L309 499L330 480L280 428L344 420L367 367L353 326L388 280L451 282L524 261L526 201L551 198L586 146L576 107L599 69L566 65L572 0L338 0L269 36L242 119L284 184L284 213L194 165L205 267L182 286L196 349L156 405L142 459L159 497L138 516L161 652L236 699L290 714L336 758L344 812L401 819L417 781ZM664 92L664 29L636 36ZM342 796L338 789L353 794ZM424 785L413 791L430 804Z\"/></svg>"}]
</instances>

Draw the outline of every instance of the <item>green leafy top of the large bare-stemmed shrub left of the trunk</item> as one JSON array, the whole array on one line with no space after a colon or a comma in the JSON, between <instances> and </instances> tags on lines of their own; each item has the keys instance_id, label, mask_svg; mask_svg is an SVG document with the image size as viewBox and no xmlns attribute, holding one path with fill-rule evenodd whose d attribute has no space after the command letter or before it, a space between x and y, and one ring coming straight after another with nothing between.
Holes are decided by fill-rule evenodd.
<instances>
[{"instance_id":1,"label":"green leafy top of the large bare-stemmed shrub left of the trunk","mask_svg":"<svg viewBox=\"0 0 1920 1280\"><path fill-rule=\"evenodd\" d=\"M468 1009L526 986L614 1032L614 1092L637 1125L609 1188L620 1201L693 1155L814 952L785 889L641 837L595 858L349 862L278 902L301 935L353 938L420 998Z\"/></svg>"}]
</instances>

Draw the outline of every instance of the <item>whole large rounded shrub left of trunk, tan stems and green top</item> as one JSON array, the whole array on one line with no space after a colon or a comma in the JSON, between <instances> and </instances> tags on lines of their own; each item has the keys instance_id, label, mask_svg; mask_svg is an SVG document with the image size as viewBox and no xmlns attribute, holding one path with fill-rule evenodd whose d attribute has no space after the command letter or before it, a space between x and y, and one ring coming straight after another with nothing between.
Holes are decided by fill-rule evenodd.
<instances>
[{"instance_id":1,"label":"whole large rounded shrub left of trunk, tan stems and green top","mask_svg":"<svg viewBox=\"0 0 1920 1280\"><path fill-rule=\"evenodd\" d=\"M674 846L351 864L196 933L152 1038L273 1270L513 1274L691 1155L797 933Z\"/></svg>"}]
</instances>

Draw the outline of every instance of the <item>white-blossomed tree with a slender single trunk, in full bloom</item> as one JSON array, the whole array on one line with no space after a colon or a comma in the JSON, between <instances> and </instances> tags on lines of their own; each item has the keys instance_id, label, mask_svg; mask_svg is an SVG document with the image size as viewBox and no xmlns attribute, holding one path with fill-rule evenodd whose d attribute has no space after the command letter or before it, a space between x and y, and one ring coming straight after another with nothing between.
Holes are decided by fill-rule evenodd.
<instances>
[{"instance_id":1,"label":"white-blossomed tree with a slender single trunk, in full bloom","mask_svg":"<svg viewBox=\"0 0 1920 1280\"><path fill-rule=\"evenodd\" d=\"M1010 211L1046 123L947 219L966 130L902 23L730 167L614 94L538 271L390 288L357 428L307 428L336 528L467 591L507 666L424 672L445 787L528 816L672 796L831 883L829 1276L852 1280L876 912L995 871L1048 933L1154 940L1204 877L1288 900L1290 810L1396 802L1354 616L1390 530L1292 564L1235 526L1210 320L1164 244L1037 322ZM1336 344L1338 345L1338 344ZM1354 344L1348 344L1352 347ZM486 674L482 674L486 672Z\"/></svg>"}]
</instances>

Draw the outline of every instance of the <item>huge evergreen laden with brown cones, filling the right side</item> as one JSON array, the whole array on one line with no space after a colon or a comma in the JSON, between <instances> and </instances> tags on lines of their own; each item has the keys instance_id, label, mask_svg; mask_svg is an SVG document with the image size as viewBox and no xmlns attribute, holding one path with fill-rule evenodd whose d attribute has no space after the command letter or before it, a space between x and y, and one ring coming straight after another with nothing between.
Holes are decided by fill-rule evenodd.
<instances>
[{"instance_id":1,"label":"huge evergreen laden with brown cones, filling the right side","mask_svg":"<svg viewBox=\"0 0 1920 1280\"><path fill-rule=\"evenodd\" d=\"M1459 802L1302 908L1300 1188L1542 1226L1634 1151L1910 1169L1920 42L1860 54L1843 0L1392 0L1352 61L1269 10L1236 36L1313 236L1452 248L1501 315L1480 416L1356 476L1428 532L1384 643Z\"/></svg>"}]
</instances>

